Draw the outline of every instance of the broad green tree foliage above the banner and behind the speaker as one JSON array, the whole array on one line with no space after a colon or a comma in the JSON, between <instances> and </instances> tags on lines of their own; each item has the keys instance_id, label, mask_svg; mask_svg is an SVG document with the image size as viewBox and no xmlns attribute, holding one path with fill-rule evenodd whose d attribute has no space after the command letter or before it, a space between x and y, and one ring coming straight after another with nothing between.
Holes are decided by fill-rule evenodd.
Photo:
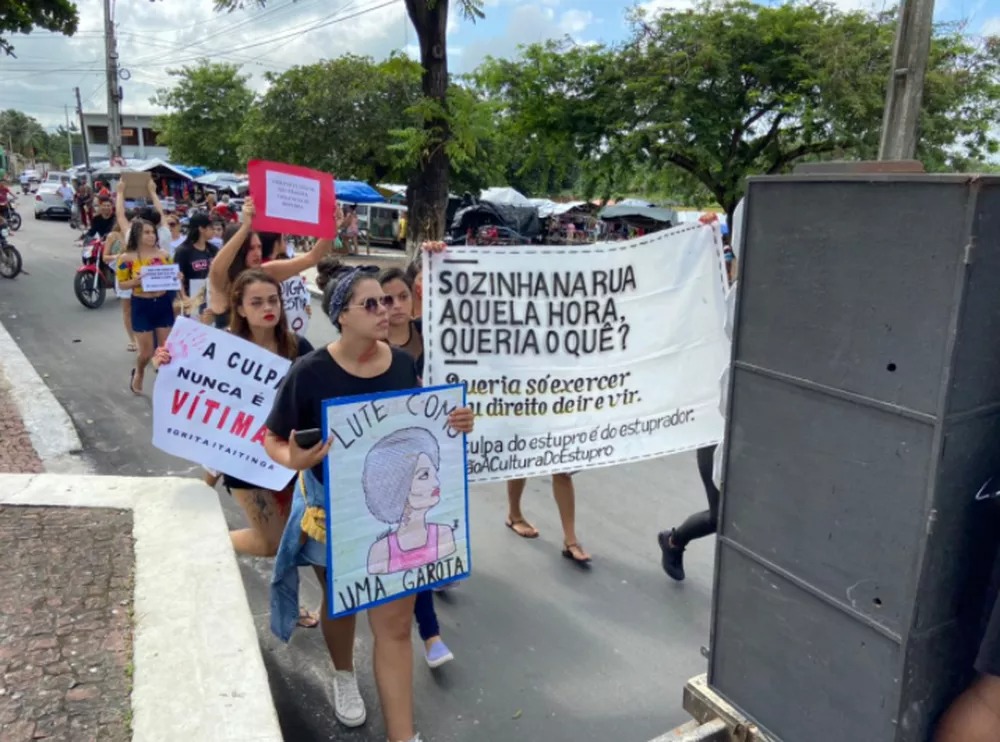
<instances>
[{"instance_id":1,"label":"broad green tree foliage above the banner and behind the speaker","mask_svg":"<svg viewBox=\"0 0 1000 742\"><path fill-rule=\"evenodd\" d=\"M513 178L544 191L577 163L588 193L641 188L731 212L747 175L876 156L894 13L733 0L630 20L619 47L532 45L473 75L526 153ZM996 151L997 51L936 29L918 155L928 169Z\"/></svg>"}]
</instances>

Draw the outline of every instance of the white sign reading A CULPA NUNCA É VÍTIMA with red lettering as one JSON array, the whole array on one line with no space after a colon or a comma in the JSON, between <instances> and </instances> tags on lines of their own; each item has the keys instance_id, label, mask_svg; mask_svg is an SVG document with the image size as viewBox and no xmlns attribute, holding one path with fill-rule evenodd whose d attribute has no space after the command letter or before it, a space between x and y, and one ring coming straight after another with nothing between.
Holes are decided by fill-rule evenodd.
<instances>
[{"instance_id":1,"label":"white sign reading A CULPA NUNCA \u00c9 V\u00cdTIMA with red lettering","mask_svg":"<svg viewBox=\"0 0 1000 742\"><path fill-rule=\"evenodd\" d=\"M291 362L186 317L167 338L171 361L153 388L153 445L258 487L295 473L264 451L264 421Z\"/></svg>"}]
</instances>

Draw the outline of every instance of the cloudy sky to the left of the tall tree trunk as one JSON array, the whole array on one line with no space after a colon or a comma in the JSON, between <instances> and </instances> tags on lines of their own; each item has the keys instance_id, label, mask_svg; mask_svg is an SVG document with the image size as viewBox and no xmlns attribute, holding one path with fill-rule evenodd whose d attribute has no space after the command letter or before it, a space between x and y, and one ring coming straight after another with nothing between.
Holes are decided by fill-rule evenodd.
<instances>
[{"instance_id":1,"label":"cloudy sky to the left of the tall tree trunk","mask_svg":"<svg viewBox=\"0 0 1000 742\"><path fill-rule=\"evenodd\" d=\"M242 65L251 85L264 88L265 72L281 72L345 53L387 56L415 39L402 2L377 8L378 0L271 0L263 9L216 13L209 0L116 5L123 109L156 112L149 102L171 79L168 68L198 57ZM64 105L75 107L79 87L86 111L107 109L104 84L101 0L78 0L80 27L66 38L51 33L14 36L17 59L0 59L4 92L0 106L25 111L46 126L65 122ZM377 9L376 9L377 8ZM355 17L358 11L367 11ZM330 23L330 21L333 21Z\"/></svg>"}]
</instances>

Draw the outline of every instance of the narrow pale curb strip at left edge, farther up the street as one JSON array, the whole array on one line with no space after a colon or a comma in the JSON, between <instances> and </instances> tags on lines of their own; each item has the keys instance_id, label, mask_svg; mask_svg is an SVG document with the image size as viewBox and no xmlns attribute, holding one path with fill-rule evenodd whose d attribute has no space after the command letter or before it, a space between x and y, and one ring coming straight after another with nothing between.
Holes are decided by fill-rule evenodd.
<instances>
[{"instance_id":1,"label":"narrow pale curb strip at left edge, farther up the street","mask_svg":"<svg viewBox=\"0 0 1000 742\"><path fill-rule=\"evenodd\" d=\"M59 404L3 324L0 324L0 374L10 384L14 404L46 471L89 471L86 463L79 458L83 444L69 413Z\"/></svg>"}]
</instances>

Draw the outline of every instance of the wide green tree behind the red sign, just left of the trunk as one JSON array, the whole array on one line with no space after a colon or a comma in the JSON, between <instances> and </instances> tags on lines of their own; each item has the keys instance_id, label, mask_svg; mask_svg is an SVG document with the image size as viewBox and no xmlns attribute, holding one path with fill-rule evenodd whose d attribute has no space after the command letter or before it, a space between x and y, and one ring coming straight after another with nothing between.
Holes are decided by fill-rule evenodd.
<instances>
[{"instance_id":1,"label":"wide green tree behind the red sign, just left of the trunk","mask_svg":"<svg viewBox=\"0 0 1000 742\"><path fill-rule=\"evenodd\" d=\"M405 177L390 130L412 123L420 66L401 56L376 63L346 55L269 74L247 117L245 157L291 162L372 182Z\"/></svg>"}]
</instances>

